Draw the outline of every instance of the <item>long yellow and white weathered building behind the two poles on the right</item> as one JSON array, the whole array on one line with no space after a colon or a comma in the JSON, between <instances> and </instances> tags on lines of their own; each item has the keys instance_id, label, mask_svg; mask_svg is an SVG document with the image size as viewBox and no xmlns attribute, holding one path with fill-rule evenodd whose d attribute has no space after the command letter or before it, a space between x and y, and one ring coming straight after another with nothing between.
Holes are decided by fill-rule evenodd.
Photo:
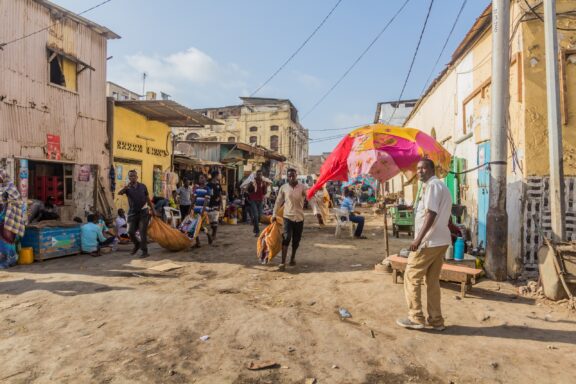
<instances>
[{"instance_id":1,"label":"long yellow and white weathered building behind the two poles on the right","mask_svg":"<svg viewBox=\"0 0 576 384\"><path fill-rule=\"evenodd\" d=\"M542 14L541 2L529 1ZM453 200L466 207L464 223L486 244L491 140L492 9L476 20L405 126L436 137L454 155L453 170L478 170L448 178ZM576 230L576 3L557 1L567 236ZM550 235L549 161L542 21L523 1L511 5L508 108L508 273L537 270L542 245L536 226ZM396 185L399 185L397 183ZM396 191L402 188L396 188ZM403 188L412 201L415 186ZM533 219L535 216L535 220Z\"/></svg>"}]
</instances>

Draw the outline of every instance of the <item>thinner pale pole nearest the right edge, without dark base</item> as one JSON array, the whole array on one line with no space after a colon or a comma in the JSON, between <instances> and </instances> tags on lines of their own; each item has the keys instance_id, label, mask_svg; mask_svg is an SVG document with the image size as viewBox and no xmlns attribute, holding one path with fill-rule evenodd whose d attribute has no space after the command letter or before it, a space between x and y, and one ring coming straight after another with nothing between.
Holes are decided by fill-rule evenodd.
<instances>
[{"instance_id":1,"label":"thinner pale pole nearest the right edge, without dark base","mask_svg":"<svg viewBox=\"0 0 576 384\"><path fill-rule=\"evenodd\" d=\"M550 152L550 211L552 216L552 239L554 241L561 241L566 238L566 210L564 202L562 124L560 122L556 0L544 0L544 39L546 44L546 90L548 101L548 145Z\"/></svg>"}]
</instances>

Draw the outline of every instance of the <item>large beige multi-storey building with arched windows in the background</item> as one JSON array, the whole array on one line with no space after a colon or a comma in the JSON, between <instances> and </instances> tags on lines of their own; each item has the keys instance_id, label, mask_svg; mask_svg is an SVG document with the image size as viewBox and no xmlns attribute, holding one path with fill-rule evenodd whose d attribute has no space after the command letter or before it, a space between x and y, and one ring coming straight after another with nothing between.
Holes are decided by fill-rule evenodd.
<instances>
[{"instance_id":1,"label":"large beige multi-storey building with arched windows in the background","mask_svg":"<svg viewBox=\"0 0 576 384\"><path fill-rule=\"evenodd\" d=\"M222 125L175 129L175 134L180 139L261 146L286 157L284 168L294 167L300 174L307 174L308 130L300 124L298 110L292 102L259 97L240 99L241 105L197 110ZM256 169L258 161L252 165Z\"/></svg>"}]
</instances>

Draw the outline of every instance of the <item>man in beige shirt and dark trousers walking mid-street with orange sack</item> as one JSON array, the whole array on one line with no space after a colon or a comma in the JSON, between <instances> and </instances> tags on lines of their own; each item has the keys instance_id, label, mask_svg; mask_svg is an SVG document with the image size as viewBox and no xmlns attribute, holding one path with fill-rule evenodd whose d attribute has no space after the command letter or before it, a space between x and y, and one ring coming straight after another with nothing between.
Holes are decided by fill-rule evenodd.
<instances>
[{"instance_id":1,"label":"man in beige shirt and dark trousers walking mid-street with orange sack","mask_svg":"<svg viewBox=\"0 0 576 384\"><path fill-rule=\"evenodd\" d=\"M278 197L274 204L274 219L278 210L284 206L284 233L282 234L282 264L279 270L286 269L286 256L288 255L288 246L292 241L292 256L290 265L296 265L296 250L302 239L304 231L304 201L306 200L306 186L298 182L296 170L289 168L287 171L288 182L278 190Z\"/></svg>"}]
</instances>

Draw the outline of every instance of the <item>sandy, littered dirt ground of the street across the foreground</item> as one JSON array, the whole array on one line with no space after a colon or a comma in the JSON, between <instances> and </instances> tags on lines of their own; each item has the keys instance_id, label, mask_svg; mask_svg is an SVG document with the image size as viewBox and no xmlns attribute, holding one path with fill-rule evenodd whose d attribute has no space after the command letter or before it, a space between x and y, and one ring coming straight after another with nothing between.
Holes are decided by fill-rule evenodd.
<instances>
[{"instance_id":1,"label":"sandy, littered dirt ground of the street across the foreground","mask_svg":"<svg viewBox=\"0 0 576 384\"><path fill-rule=\"evenodd\" d=\"M380 221L364 241L307 222L285 273L257 263L247 225L221 226L214 246L191 252L153 245L145 260L116 252L0 272L0 383L574 382L573 312L491 281L459 300L447 283L446 331L398 328L402 285L373 271ZM183 268L147 269L162 261ZM278 366L245 367L267 359Z\"/></svg>"}]
</instances>

